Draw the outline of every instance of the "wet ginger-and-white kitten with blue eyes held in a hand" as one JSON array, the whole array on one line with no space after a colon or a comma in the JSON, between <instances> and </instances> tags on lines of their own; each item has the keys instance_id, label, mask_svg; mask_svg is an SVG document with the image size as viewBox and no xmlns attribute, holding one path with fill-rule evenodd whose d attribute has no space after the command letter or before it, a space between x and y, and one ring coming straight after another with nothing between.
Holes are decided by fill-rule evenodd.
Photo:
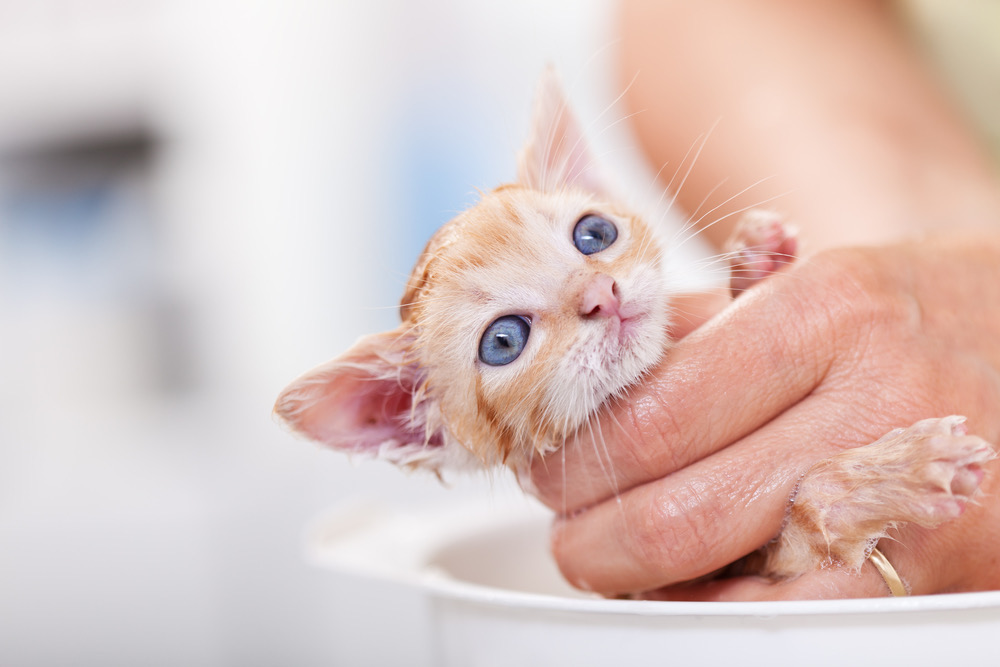
<instances>
[{"instance_id":1,"label":"wet ginger-and-white kitten with blue eyes held in a hand","mask_svg":"<svg viewBox=\"0 0 1000 667\"><path fill-rule=\"evenodd\" d=\"M335 449L439 474L517 470L584 428L660 360L672 319L656 231L609 195L593 165L546 73L517 180L431 238L397 329L294 381L277 415ZM780 218L746 216L727 246L734 296L780 270L795 246ZM894 525L957 516L994 456L963 421L919 422L814 466L755 561L759 573L860 568Z\"/></svg>"}]
</instances>

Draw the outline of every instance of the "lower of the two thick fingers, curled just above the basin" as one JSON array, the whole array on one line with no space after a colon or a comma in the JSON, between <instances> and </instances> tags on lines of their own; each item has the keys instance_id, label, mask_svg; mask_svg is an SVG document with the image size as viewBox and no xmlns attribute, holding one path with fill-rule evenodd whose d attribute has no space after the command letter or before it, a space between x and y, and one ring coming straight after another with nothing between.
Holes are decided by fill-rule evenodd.
<instances>
[{"instance_id":1,"label":"lower of the two thick fingers, curled just above the basin","mask_svg":"<svg viewBox=\"0 0 1000 667\"><path fill-rule=\"evenodd\" d=\"M766 544L814 463L891 426L849 405L851 388L813 396L733 445L666 477L558 519L552 552L566 578L605 594L712 573Z\"/></svg>"}]
</instances>

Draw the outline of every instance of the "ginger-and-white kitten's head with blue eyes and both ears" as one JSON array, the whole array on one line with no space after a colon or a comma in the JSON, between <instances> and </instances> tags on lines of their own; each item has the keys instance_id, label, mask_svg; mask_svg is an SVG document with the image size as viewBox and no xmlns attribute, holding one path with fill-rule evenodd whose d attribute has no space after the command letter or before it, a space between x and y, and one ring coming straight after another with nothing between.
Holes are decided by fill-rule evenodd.
<instances>
[{"instance_id":1,"label":"ginger-and-white kitten's head with blue eyes and both ears","mask_svg":"<svg viewBox=\"0 0 1000 667\"><path fill-rule=\"evenodd\" d=\"M293 382L277 414L337 449L434 470L557 447L667 342L659 243L593 167L547 73L517 181L431 238L399 328Z\"/></svg>"}]
</instances>

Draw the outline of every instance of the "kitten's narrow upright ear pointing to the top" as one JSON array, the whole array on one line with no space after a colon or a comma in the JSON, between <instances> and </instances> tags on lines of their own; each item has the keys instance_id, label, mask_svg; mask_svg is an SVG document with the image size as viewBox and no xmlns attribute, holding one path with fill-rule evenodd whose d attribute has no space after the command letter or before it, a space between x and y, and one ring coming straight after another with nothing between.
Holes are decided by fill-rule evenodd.
<instances>
[{"instance_id":1,"label":"kitten's narrow upright ear pointing to the top","mask_svg":"<svg viewBox=\"0 0 1000 667\"><path fill-rule=\"evenodd\" d=\"M571 186L605 194L583 129L551 67L538 83L531 130L518 159L517 180L543 192Z\"/></svg>"}]
</instances>

